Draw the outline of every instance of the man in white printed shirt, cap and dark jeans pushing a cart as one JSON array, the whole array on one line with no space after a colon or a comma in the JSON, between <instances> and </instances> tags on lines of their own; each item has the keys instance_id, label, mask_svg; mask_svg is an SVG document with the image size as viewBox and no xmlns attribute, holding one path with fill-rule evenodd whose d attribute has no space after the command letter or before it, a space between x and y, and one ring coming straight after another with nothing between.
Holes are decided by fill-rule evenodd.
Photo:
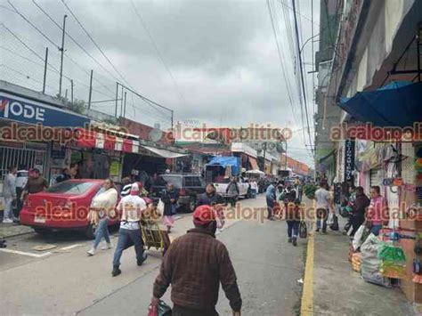
<instances>
[{"instance_id":1,"label":"man in white printed shirt, cap and dark jeans pushing a cart","mask_svg":"<svg viewBox=\"0 0 422 316\"><path fill-rule=\"evenodd\" d=\"M118 276L122 271L119 269L120 257L123 250L126 249L129 242L134 244L136 260L138 265L147 259L147 255L143 253L143 241L141 232L142 211L147 208L145 201L139 197L139 187L137 183L132 184L130 195L124 197L118 203L118 211L122 212L120 229L118 230L118 246L113 258L113 277Z\"/></svg>"}]
</instances>

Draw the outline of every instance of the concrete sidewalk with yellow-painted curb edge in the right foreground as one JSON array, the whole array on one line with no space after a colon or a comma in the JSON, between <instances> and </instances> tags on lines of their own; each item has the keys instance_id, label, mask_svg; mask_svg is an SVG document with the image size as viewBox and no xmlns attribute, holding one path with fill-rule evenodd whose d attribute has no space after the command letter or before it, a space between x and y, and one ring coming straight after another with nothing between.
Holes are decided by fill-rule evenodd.
<instances>
[{"instance_id":1,"label":"concrete sidewalk with yellow-painted curb edge in the right foreground","mask_svg":"<svg viewBox=\"0 0 422 316\"><path fill-rule=\"evenodd\" d=\"M302 315L416 315L400 288L362 280L348 261L348 247L341 230L310 236Z\"/></svg>"}]
</instances>

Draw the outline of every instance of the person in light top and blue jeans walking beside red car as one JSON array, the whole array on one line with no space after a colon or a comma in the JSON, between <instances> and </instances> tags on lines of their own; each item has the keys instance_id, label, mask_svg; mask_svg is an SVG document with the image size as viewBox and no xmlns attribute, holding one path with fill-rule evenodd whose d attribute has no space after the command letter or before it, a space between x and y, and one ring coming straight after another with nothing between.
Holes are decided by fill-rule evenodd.
<instances>
[{"instance_id":1,"label":"person in light top and blue jeans walking beside red car","mask_svg":"<svg viewBox=\"0 0 422 316\"><path fill-rule=\"evenodd\" d=\"M112 179L107 179L102 185L101 193L97 194L91 202L91 209L89 218L91 223L96 227L95 239L93 240L93 247L88 250L88 255L95 255L95 250L102 237L106 241L106 246L103 250L111 248L110 234L109 234L109 216L114 216L116 204L118 203L118 190L114 185Z\"/></svg>"}]
</instances>

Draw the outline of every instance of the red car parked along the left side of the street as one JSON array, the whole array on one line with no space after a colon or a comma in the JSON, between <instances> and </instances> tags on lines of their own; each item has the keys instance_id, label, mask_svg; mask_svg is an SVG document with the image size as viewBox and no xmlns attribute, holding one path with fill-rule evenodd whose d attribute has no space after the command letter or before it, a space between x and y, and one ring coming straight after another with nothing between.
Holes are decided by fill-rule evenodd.
<instances>
[{"instance_id":1,"label":"red car parked along the left side of the street","mask_svg":"<svg viewBox=\"0 0 422 316\"><path fill-rule=\"evenodd\" d=\"M88 222L88 212L93 197L104 189L104 180L75 179L54 184L45 191L29 194L20 211L20 223L32 227L37 233L52 230L84 231L93 239L94 228ZM117 183L118 192L121 186ZM118 223L120 215L110 220Z\"/></svg>"}]
</instances>

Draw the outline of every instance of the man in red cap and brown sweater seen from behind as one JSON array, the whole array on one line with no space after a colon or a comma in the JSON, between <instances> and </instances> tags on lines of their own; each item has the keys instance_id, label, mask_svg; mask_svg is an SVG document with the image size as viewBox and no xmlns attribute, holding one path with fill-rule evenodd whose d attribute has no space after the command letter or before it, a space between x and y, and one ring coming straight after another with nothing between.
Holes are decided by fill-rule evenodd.
<instances>
[{"instance_id":1,"label":"man in red cap and brown sweater seen from behind","mask_svg":"<svg viewBox=\"0 0 422 316\"><path fill-rule=\"evenodd\" d=\"M175 239L164 256L154 282L152 305L172 285L173 316L216 316L220 282L233 315L240 315L236 273L223 243L215 239L215 210L207 205L193 213L195 228Z\"/></svg>"}]
</instances>

